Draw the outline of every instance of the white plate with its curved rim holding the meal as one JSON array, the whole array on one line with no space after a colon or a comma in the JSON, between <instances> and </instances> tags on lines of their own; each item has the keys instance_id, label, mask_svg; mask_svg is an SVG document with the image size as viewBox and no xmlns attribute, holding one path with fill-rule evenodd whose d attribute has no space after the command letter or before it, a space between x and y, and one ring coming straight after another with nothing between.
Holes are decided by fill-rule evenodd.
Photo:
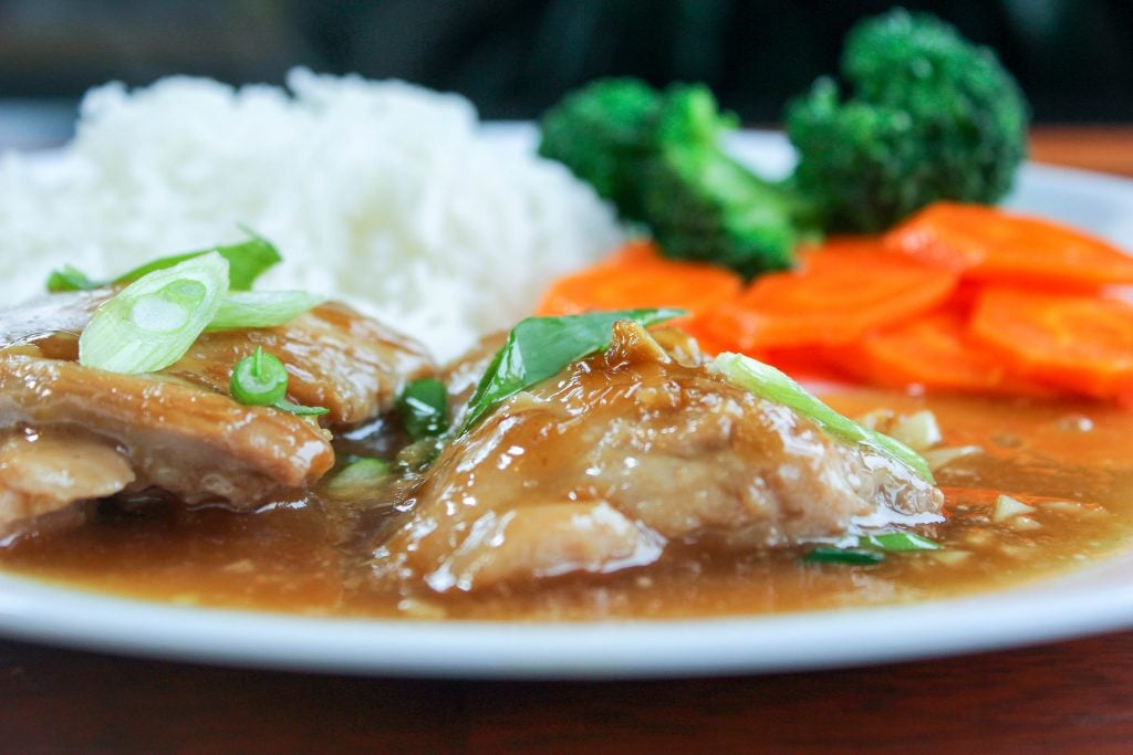
<instances>
[{"instance_id":1,"label":"white plate with its curved rim holding the meal","mask_svg":"<svg viewBox=\"0 0 1133 755\"><path fill-rule=\"evenodd\" d=\"M530 132L497 127L521 146ZM782 138L738 152L768 172ZM1133 248L1133 182L1029 165L1011 206ZM1133 627L1133 552L1074 574L953 601L752 618L591 624L321 619L182 608L0 576L0 633L112 652L264 668L511 678L804 670L1008 647Z\"/></svg>"}]
</instances>

